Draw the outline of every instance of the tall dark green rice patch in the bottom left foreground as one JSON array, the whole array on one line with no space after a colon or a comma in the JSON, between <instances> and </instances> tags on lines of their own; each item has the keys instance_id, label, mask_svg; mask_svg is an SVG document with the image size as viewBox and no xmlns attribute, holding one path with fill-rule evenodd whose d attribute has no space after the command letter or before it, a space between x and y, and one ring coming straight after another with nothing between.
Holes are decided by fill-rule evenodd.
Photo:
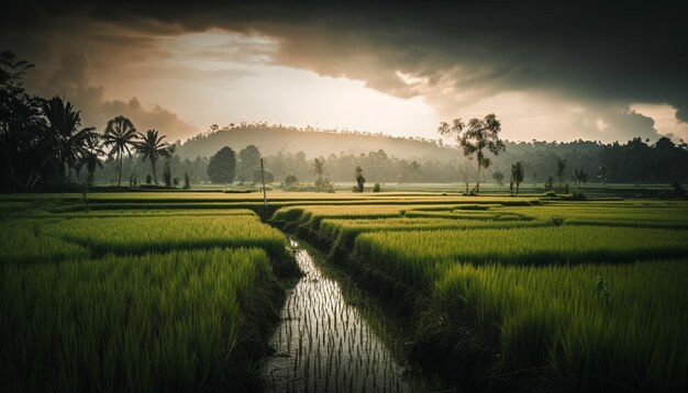
<instances>
[{"instance_id":1,"label":"tall dark green rice patch in the bottom left foreground","mask_svg":"<svg viewBox=\"0 0 688 393\"><path fill-rule=\"evenodd\" d=\"M0 385L163 392L238 383L246 359L235 351L251 336L248 308L270 302L252 299L265 297L269 280L265 252L243 248L7 266Z\"/></svg>"}]
</instances>

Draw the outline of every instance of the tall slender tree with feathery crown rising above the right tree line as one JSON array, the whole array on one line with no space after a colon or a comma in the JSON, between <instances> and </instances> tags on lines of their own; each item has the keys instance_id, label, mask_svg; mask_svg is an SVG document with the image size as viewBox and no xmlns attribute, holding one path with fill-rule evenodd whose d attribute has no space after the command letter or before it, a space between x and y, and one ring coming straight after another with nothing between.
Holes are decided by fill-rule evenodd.
<instances>
[{"instance_id":1,"label":"tall slender tree with feathery crown rising above the right tree line","mask_svg":"<svg viewBox=\"0 0 688 393\"><path fill-rule=\"evenodd\" d=\"M464 131L465 130L465 131ZM488 114L484 119L474 117L465 124L460 119L454 119L453 125L448 123L440 123L437 128L440 135L454 136L459 146L464 148L464 156L476 156L478 161L478 180L476 182L476 192L480 192L480 168L488 168L491 164L490 158L486 157L487 151L499 155L499 151L506 150L504 143L499 138L501 132L501 123L493 113Z\"/></svg>"}]
</instances>

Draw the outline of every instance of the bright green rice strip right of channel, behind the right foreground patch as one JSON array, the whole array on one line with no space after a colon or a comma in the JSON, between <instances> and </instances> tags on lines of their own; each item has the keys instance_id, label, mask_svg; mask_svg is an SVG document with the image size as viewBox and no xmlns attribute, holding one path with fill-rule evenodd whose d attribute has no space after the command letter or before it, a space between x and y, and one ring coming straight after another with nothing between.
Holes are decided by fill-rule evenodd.
<instances>
[{"instance_id":1,"label":"bright green rice strip right of channel, behind the right foreground patch","mask_svg":"<svg viewBox=\"0 0 688 393\"><path fill-rule=\"evenodd\" d=\"M688 232L606 226L381 232L358 236L354 254L411 284L428 284L457 262L541 266L684 257Z\"/></svg>"}]
</instances>

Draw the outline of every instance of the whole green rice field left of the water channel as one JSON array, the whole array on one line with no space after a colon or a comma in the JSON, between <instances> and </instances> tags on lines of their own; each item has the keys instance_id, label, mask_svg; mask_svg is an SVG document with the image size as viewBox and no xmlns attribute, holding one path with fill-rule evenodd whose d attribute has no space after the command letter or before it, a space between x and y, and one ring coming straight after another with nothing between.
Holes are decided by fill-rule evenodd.
<instances>
[{"instance_id":1,"label":"whole green rice field left of the water channel","mask_svg":"<svg viewBox=\"0 0 688 393\"><path fill-rule=\"evenodd\" d=\"M27 209L0 229L0 391L260 385L296 263L253 211Z\"/></svg>"}]
</instances>

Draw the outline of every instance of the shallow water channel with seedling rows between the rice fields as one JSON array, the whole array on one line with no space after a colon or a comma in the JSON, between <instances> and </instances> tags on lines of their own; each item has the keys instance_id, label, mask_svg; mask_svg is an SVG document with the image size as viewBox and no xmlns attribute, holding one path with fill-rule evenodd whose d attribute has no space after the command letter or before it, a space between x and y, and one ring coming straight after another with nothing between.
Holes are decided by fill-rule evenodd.
<instances>
[{"instance_id":1,"label":"shallow water channel with seedling rows between the rice fields","mask_svg":"<svg viewBox=\"0 0 688 393\"><path fill-rule=\"evenodd\" d=\"M271 338L276 353L264 363L268 392L408 392L403 368L362 313L347 304L298 243L303 277L287 293Z\"/></svg>"}]
</instances>

